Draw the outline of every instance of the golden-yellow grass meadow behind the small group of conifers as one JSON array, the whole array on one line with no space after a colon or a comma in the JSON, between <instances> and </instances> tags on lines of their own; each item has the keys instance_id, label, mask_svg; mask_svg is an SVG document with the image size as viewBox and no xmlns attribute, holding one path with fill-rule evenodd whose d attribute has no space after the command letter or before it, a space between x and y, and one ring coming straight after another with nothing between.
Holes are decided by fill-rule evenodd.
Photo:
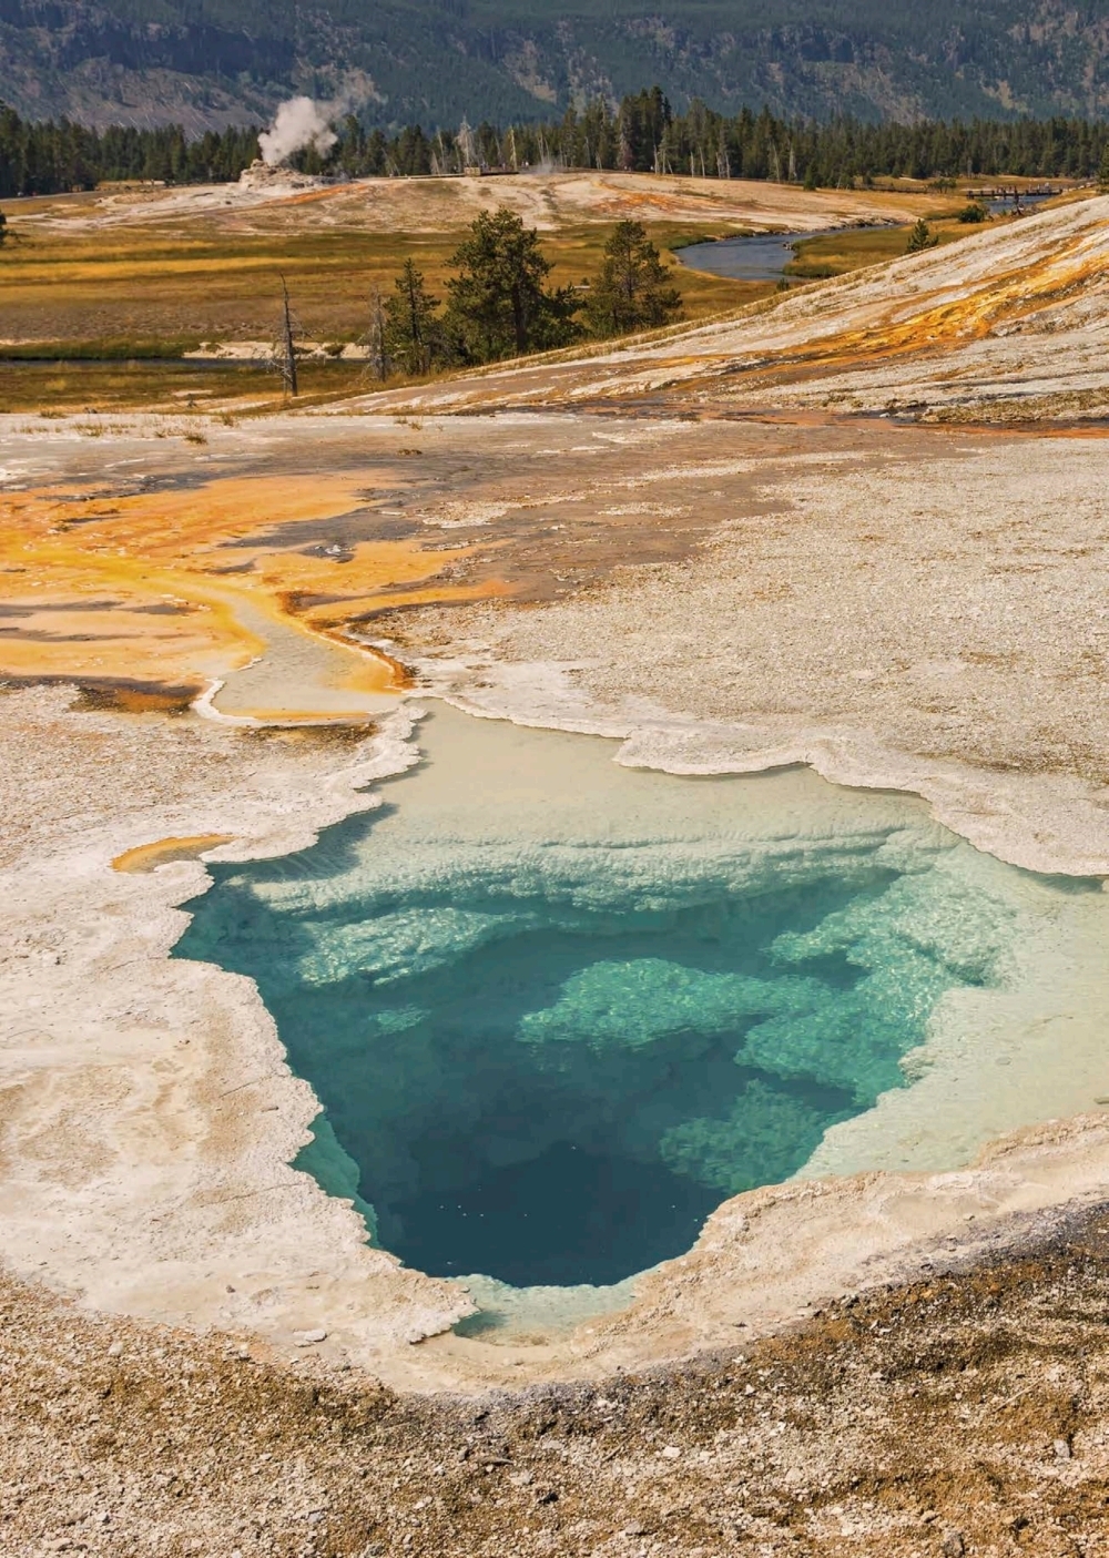
<instances>
[{"instance_id":1,"label":"golden-yellow grass meadow behind the small group of conifers","mask_svg":"<svg viewBox=\"0 0 1109 1558\"><path fill-rule=\"evenodd\" d=\"M421 192L438 210L444 192ZM277 330L280 280L288 284L304 338L329 349L366 338L371 299L386 296L405 259L414 259L427 287L447 296L450 259L464 223L442 231L375 232L316 215L316 196L296 213L245 210L240 231L226 212L159 213L148 221L86 226L20 220L9 209L12 240L0 249L0 410L48 411L97 407L206 410L280 404L262 363L195 363L184 354L223 343L266 343ZM59 201L61 213L73 201ZM36 203L42 210L42 203ZM424 206L421 206L424 210ZM452 217L456 215L452 210ZM428 220L428 226L431 221ZM542 234L553 262L551 282L583 287L601 263L614 223L567 221ZM648 234L670 263L684 315L698 321L773 293L769 282L745 282L690 270L671 251L690 241L690 223L648 221ZM709 223L695 235L731 237L740 224ZM969 229L942 223L941 237ZM903 252L905 229L847 229L801 246L788 266L797 279L841 274ZM305 361L302 399L330 399L371 388L352 361Z\"/></svg>"}]
</instances>

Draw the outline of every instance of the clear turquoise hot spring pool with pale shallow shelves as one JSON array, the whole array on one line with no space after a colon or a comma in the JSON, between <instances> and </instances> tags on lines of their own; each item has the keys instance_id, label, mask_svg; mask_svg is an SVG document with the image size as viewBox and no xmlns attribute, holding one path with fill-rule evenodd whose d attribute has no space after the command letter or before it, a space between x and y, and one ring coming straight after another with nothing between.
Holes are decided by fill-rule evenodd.
<instances>
[{"instance_id":1,"label":"clear turquoise hot spring pool with pale shallow shelves","mask_svg":"<svg viewBox=\"0 0 1109 1558\"><path fill-rule=\"evenodd\" d=\"M436 709L385 804L210 866L322 1106L297 1165L436 1276L609 1285L796 1173L966 1162L1109 1094L1109 894L808 770L684 779Z\"/></svg>"}]
</instances>

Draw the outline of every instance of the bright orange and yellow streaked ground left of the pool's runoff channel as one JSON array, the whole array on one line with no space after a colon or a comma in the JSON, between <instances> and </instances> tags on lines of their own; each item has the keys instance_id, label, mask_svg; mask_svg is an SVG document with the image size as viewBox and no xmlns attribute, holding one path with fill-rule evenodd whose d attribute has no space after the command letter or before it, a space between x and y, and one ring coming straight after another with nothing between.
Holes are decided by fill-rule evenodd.
<instances>
[{"instance_id":1,"label":"bright orange and yellow streaked ground left of the pool's runoff channel","mask_svg":"<svg viewBox=\"0 0 1109 1558\"><path fill-rule=\"evenodd\" d=\"M312 717L316 678L332 690L399 692L403 668L343 625L400 598L472 589L433 583L458 547L357 538L375 475L224 477L121 497L75 486L5 494L0 671L212 681L299 639L313 653L285 656L293 682L293 662L312 662L308 684L290 689L294 717ZM335 556L302 550L305 525L343 519L355 536ZM495 583L481 589L498 592ZM333 700L322 712L335 715Z\"/></svg>"}]
</instances>

